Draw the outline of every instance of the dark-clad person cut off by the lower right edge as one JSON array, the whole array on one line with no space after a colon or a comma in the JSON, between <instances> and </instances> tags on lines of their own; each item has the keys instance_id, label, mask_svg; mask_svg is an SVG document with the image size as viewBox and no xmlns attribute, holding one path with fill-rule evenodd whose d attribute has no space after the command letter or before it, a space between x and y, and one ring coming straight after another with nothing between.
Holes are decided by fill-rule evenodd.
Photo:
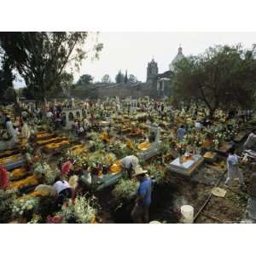
<instances>
[{"instance_id":1,"label":"dark-clad person cut off by the lower right edge","mask_svg":"<svg viewBox=\"0 0 256 256\"><path fill-rule=\"evenodd\" d=\"M248 186L248 201L246 214L249 218L256 220L256 172L253 172Z\"/></svg>"}]
</instances>

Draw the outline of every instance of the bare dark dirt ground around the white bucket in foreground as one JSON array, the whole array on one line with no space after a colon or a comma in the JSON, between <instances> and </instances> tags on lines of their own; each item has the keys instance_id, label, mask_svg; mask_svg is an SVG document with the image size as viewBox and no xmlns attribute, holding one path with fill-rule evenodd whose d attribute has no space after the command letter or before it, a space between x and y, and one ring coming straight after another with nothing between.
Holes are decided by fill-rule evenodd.
<instances>
[{"instance_id":1,"label":"bare dark dirt ground around the white bucket in foreground","mask_svg":"<svg viewBox=\"0 0 256 256\"><path fill-rule=\"evenodd\" d=\"M204 170L205 165L201 166L199 172ZM217 172L217 171L215 171ZM250 177L247 169L242 169L246 183ZM223 174L223 173L222 173ZM171 177L170 177L171 176ZM224 198L212 195L207 206L196 218L196 224L217 224L217 223L240 223L244 217L247 205L247 193L239 188L238 181L234 181L230 188L224 187L226 173L222 177L218 187L227 191ZM166 183L156 184L152 193L152 204L150 206L150 221L158 220L161 223L175 224L179 223L180 207L189 204L195 209L196 213L207 201L213 188L212 184L206 184L198 181L191 181L188 177L175 177L169 173ZM108 188L102 191L98 196L102 218L102 223L132 223L131 210L134 201L127 202L125 206L115 210L113 208L113 198Z\"/></svg>"}]
</instances>

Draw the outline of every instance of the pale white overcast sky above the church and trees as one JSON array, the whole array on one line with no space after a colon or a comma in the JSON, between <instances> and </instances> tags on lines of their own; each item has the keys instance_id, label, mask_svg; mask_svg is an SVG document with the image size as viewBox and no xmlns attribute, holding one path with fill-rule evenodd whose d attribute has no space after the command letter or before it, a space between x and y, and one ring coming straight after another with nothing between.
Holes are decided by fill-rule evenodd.
<instances>
[{"instance_id":1,"label":"pale white overcast sky above the church and trees","mask_svg":"<svg viewBox=\"0 0 256 256\"><path fill-rule=\"evenodd\" d=\"M79 73L74 73L75 82L84 73L94 81L101 81L104 74L114 80L119 69L145 81L148 62L154 57L159 73L165 72L180 44L183 55L201 54L216 44L241 43L250 49L256 44L256 32L101 32L98 41L104 45L99 60L84 60ZM15 82L15 87L20 84Z\"/></svg>"}]
</instances>

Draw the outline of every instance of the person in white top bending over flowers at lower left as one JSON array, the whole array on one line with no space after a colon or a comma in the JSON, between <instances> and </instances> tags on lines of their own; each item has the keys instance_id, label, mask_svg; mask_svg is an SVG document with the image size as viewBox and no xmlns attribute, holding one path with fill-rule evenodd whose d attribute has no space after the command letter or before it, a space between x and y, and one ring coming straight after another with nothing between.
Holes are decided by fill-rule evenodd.
<instances>
[{"instance_id":1,"label":"person in white top bending over flowers at lower left","mask_svg":"<svg viewBox=\"0 0 256 256\"><path fill-rule=\"evenodd\" d=\"M57 177L55 179L53 188L56 191L56 195L57 195L56 205L58 207L61 207L61 205L67 198L72 198L73 192L72 192L71 186L66 180L61 180L61 177Z\"/></svg>"}]
</instances>

